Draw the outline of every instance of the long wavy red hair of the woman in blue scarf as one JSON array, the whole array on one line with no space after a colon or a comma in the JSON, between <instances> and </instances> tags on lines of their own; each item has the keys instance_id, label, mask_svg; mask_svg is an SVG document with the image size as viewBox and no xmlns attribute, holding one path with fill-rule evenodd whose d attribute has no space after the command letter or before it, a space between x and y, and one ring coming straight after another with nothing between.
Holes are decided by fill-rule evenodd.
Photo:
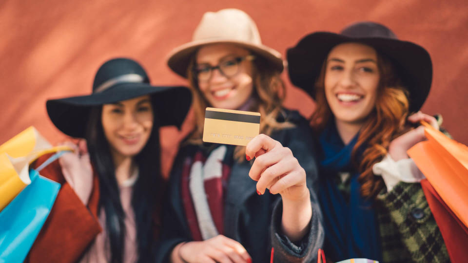
<instances>
[{"instance_id":1,"label":"long wavy red hair of the woman in blue scarf","mask_svg":"<svg viewBox=\"0 0 468 263\"><path fill-rule=\"evenodd\" d=\"M351 153L351 160L361 173L358 177L361 195L367 198L376 198L385 187L382 177L373 174L372 167L387 155L390 142L405 132L405 121L409 113L408 91L390 59L377 54L377 66L380 80L375 107L360 129ZM332 116L325 97L325 70L326 62L315 82L317 110L312 114L311 121L317 131L321 131ZM364 145L364 151L358 151Z\"/></svg>"}]
</instances>

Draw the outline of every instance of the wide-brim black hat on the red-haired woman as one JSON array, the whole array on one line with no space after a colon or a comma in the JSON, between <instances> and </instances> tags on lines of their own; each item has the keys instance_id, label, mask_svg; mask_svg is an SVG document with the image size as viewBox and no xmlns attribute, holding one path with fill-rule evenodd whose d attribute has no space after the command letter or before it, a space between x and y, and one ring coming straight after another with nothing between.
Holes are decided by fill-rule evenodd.
<instances>
[{"instance_id":1,"label":"wide-brim black hat on the red-haired woman","mask_svg":"<svg viewBox=\"0 0 468 263\"><path fill-rule=\"evenodd\" d=\"M314 83L331 49L341 43L369 45L395 65L409 92L409 111L417 112L429 95L432 62L421 46L396 38L387 27L374 22L360 22L341 34L315 32L302 38L287 50L288 71L292 84L315 96Z\"/></svg>"}]
</instances>

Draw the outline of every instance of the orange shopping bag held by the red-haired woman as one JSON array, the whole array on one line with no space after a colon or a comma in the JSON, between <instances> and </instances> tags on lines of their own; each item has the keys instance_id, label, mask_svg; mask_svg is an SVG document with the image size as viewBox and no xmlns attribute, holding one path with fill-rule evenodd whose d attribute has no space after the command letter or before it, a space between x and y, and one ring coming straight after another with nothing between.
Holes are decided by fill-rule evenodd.
<instances>
[{"instance_id":1,"label":"orange shopping bag held by the red-haired woman","mask_svg":"<svg viewBox=\"0 0 468 263\"><path fill-rule=\"evenodd\" d=\"M424 124L427 141L407 152L455 216L468 226L468 147Z\"/></svg>"}]
</instances>

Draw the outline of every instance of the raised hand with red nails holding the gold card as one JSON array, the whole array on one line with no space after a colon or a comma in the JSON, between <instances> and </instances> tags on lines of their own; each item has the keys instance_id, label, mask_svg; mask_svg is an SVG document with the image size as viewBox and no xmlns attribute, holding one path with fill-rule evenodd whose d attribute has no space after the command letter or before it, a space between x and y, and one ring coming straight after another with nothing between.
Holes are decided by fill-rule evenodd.
<instances>
[{"instance_id":1,"label":"raised hand with red nails holding the gold card","mask_svg":"<svg viewBox=\"0 0 468 263\"><path fill-rule=\"evenodd\" d=\"M305 170L289 148L265 134L249 142L245 153L247 160L255 157L249 176L257 181L257 193L262 195L268 188L281 195L283 233L293 242L300 240L312 217Z\"/></svg>"}]
</instances>

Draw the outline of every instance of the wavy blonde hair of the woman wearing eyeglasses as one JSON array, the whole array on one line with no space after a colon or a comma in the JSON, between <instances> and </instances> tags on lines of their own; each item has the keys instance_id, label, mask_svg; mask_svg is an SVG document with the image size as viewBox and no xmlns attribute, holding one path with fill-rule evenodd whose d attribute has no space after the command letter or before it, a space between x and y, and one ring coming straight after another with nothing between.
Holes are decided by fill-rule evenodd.
<instances>
[{"instance_id":1,"label":"wavy blonde hair of the woman wearing eyeglasses","mask_svg":"<svg viewBox=\"0 0 468 263\"><path fill-rule=\"evenodd\" d=\"M193 94L192 106L194 110L195 127L189 133L184 143L201 145L205 109L206 107L210 107L210 103L198 88L198 83L193 72L196 66L195 56L192 57L187 69L187 78L190 83L189 88ZM260 133L271 135L275 130L292 127L293 125L289 122L280 123L276 121L279 114L284 114L281 105L286 95L286 87L280 77L280 72L274 70L273 67L260 56L256 56L252 64L252 75L254 79L254 91L252 96L255 103L248 110L261 114ZM245 160L245 147L237 146L234 150L234 158L238 162Z\"/></svg>"}]
</instances>

